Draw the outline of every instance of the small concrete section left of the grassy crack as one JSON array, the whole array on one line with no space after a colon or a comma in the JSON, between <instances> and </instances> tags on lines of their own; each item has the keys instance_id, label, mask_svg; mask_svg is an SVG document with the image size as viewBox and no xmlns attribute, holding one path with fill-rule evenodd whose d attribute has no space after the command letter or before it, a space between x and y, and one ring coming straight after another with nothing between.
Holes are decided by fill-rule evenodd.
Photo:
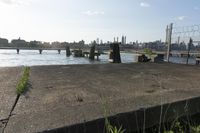
<instances>
[{"instance_id":1,"label":"small concrete section left of the grassy crack","mask_svg":"<svg viewBox=\"0 0 200 133\"><path fill-rule=\"evenodd\" d=\"M21 76L21 68L0 68L0 132L9 117L16 99L16 84Z\"/></svg>"}]
</instances>

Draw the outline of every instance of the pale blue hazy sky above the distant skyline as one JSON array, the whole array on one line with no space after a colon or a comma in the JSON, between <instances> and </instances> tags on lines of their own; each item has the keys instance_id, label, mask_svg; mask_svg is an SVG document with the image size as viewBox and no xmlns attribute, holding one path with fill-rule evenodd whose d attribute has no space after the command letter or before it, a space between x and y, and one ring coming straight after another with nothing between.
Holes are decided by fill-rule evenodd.
<instances>
[{"instance_id":1,"label":"pale blue hazy sky above the distant skyline","mask_svg":"<svg viewBox=\"0 0 200 133\"><path fill-rule=\"evenodd\" d=\"M200 0L0 0L0 37L9 41L164 41L170 23L200 24Z\"/></svg>"}]
</instances>

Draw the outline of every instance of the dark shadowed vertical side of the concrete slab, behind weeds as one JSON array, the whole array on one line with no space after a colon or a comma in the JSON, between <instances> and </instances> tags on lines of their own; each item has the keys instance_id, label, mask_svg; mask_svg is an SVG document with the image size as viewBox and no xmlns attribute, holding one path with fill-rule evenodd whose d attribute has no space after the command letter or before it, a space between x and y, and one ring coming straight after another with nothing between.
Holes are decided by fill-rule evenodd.
<instances>
[{"instance_id":1,"label":"dark shadowed vertical side of the concrete slab, behind weeds","mask_svg":"<svg viewBox=\"0 0 200 133\"><path fill-rule=\"evenodd\" d=\"M123 126L126 132L135 132L142 129L147 129L158 125L160 123L160 115L162 112L162 123L172 122L181 117L192 117L200 114L200 97L186 99L174 103L164 104L140 109L137 111L120 113L108 117L112 125L120 127ZM42 131L40 133L103 133L105 132L105 118L75 124L67 127L53 129L49 131Z\"/></svg>"}]
</instances>

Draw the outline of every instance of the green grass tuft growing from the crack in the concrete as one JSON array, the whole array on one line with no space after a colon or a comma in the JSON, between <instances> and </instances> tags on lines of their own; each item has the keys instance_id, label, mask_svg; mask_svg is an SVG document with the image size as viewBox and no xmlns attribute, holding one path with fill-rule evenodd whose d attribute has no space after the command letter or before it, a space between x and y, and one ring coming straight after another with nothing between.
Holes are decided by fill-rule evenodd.
<instances>
[{"instance_id":1,"label":"green grass tuft growing from the crack in the concrete","mask_svg":"<svg viewBox=\"0 0 200 133\"><path fill-rule=\"evenodd\" d=\"M22 93L25 92L28 85L29 73L30 73L30 67L25 67L23 70L22 78L20 79L16 87L18 95L21 95Z\"/></svg>"}]
</instances>

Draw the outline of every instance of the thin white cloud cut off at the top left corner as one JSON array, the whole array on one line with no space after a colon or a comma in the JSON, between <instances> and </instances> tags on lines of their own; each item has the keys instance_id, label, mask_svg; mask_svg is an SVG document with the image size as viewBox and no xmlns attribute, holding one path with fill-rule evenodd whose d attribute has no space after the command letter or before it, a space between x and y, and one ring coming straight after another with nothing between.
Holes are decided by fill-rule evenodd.
<instances>
[{"instance_id":1,"label":"thin white cloud cut off at the top left corner","mask_svg":"<svg viewBox=\"0 0 200 133\"><path fill-rule=\"evenodd\" d=\"M31 0L0 0L0 3L6 5L29 5Z\"/></svg>"}]
</instances>

